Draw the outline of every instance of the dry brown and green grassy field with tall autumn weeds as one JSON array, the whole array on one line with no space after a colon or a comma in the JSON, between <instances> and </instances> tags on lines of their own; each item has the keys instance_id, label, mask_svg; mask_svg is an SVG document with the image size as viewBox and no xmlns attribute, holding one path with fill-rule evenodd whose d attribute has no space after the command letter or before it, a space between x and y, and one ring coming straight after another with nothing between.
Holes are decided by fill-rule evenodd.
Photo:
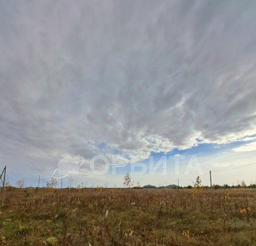
<instances>
[{"instance_id":1,"label":"dry brown and green grassy field with tall autumn weeds","mask_svg":"<svg viewBox=\"0 0 256 246\"><path fill-rule=\"evenodd\" d=\"M255 189L1 188L1 245L256 245Z\"/></svg>"}]
</instances>

